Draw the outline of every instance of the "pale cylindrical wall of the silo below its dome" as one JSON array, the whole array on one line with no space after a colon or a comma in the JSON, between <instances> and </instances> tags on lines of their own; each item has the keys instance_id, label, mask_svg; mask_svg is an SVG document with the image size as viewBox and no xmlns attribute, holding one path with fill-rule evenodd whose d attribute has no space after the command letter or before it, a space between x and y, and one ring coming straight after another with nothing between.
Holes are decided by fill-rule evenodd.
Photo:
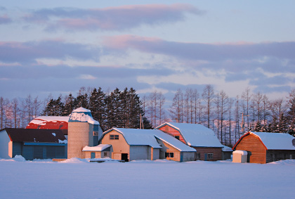
<instances>
[{"instance_id":1,"label":"pale cylindrical wall of the silo below its dome","mask_svg":"<svg viewBox=\"0 0 295 199\"><path fill-rule=\"evenodd\" d=\"M69 122L67 133L67 158L84 158L82 149L89 146L89 123Z\"/></svg>"}]
</instances>

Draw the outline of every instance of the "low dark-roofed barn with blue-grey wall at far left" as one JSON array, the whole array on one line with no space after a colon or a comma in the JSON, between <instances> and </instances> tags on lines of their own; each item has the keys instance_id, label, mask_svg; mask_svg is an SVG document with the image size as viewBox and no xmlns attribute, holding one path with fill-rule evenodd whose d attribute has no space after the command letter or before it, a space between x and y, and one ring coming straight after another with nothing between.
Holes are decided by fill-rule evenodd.
<instances>
[{"instance_id":1,"label":"low dark-roofed barn with blue-grey wall at far left","mask_svg":"<svg viewBox=\"0 0 295 199\"><path fill-rule=\"evenodd\" d=\"M67 140L58 129L12 129L0 131L0 158L22 155L26 160L67 158Z\"/></svg>"}]
</instances>

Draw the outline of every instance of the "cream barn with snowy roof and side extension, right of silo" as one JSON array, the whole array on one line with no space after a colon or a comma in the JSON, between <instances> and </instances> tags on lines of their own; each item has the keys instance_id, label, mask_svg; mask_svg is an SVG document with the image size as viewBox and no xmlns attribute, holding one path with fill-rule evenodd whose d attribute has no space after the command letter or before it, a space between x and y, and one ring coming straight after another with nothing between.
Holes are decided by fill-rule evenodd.
<instances>
[{"instance_id":1,"label":"cream barn with snowy roof and side extension, right of silo","mask_svg":"<svg viewBox=\"0 0 295 199\"><path fill-rule=\"evenodd\" d=\"M100 144L112 146L114 160L195 160L194 148L157 129L112 128L105 131Z\"/></svg>"}]
</instances>

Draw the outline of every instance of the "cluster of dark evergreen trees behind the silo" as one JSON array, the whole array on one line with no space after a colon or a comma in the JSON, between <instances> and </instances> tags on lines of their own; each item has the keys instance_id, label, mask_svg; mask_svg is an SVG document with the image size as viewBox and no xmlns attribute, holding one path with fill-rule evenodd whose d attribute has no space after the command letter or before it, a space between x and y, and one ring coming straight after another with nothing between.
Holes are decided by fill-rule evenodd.
<instances>
[{"instance_id":1,"label":"cluster of dark evergreen trees behind the silo","mask_svg":"<svg viewBox=\"0 0 295 199\"><path fill-rule=\"evenodd\" d=\"M76 98L69 94L63 101L61 96L58 99L49 99L42 115L67 116L72 110L83 107L91 110L94 120L100 122L103 130L112 127L138 129L140 127L140 115L142 116L143 127L150 129L151 124L144 117L142 102L136 90L133 88L120 91L114 89L106 94L100 87L85 92L82 87Z\"/></svg>"}]
</instances>

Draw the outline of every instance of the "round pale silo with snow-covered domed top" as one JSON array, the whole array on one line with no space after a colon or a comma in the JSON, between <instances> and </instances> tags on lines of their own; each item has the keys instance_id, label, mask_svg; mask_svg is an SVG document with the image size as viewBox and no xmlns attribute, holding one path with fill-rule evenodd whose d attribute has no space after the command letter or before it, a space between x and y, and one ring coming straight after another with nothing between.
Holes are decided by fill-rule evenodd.
<instances>
[{"instance_id":1,"label":"round pale silo with snow-covered domed top","mask_svg":"<svg viewBox=\"0 0 295 199\"><path fill-rule=\"evenodd\" d=\"M68 122L67 158L84 158L85 146L98 145L99 122L93 120L91 111L86 108L73 110Z\"/></svg>"}]
</instances>

